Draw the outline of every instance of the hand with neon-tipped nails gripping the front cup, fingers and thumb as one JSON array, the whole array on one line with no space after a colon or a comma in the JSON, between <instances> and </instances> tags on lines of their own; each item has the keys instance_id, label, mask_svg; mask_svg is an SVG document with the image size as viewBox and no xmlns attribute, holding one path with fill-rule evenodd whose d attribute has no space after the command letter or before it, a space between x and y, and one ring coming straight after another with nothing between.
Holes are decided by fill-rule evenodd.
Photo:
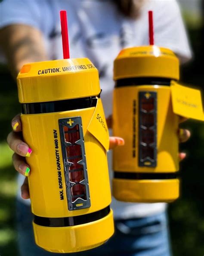
<instances>
[{"instance_id":1,"label":"hand with neon-tipped nails gripping the front cup, fingers and thumb","mask_svg":"<svg viewBox=\"0 0 204 256\"><path fill-rule=\"evenodd\" d=\"M20 115L16 115L11 122L13 131L9 133L7 142L14 151L12 156L13 165L17 172L26 176L21 187L22 198L30 198L28 189L28 176L30 175L30 166L26 163L25 157L30 157L32 150L24 141L22 141L22 122ZM110 149L124 145L124 140L118 137L110 137Z\"/></svg>"}]
</instances>

